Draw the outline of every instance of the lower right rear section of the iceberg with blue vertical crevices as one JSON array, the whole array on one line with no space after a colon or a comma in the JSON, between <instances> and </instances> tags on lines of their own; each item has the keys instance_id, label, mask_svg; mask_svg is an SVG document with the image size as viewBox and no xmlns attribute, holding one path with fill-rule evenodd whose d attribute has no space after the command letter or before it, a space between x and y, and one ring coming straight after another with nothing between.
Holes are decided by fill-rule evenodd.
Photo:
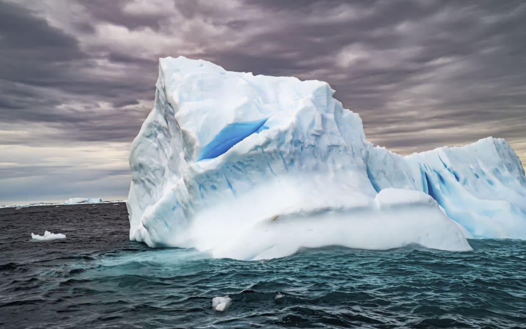
<instances>
[{"instance_id":1,"label":"lower right rear section of the iceberg with blue vertical crevices","mask_svg":"<svg viewBox=\"0 0 526 329\"><path fill-rule=\"evenodd\" d=\"M375 147L368 160L376 190L423 191L473 237L526 239L526 178L504 139L488 137L406 157Z\"/></svg>"}]
</instances>

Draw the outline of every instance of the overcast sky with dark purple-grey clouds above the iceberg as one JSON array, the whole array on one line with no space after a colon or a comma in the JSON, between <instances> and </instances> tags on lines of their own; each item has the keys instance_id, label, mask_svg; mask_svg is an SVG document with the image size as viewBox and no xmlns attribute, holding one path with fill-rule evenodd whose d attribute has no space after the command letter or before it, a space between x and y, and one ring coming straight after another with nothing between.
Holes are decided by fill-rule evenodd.
<instances>
[{"instance_id":1,"label":"overcast sky with dark purple-grey clouds above the iceberg","mask_svg":"<svg viewBox=\"0 0 526 329\"><path fill-rule=\"evenodd\" d=\"M524 1L0 0L0 204L127 197L158 58L327 81L402 155L526 163Z\"/></svg>"}]
</instances>

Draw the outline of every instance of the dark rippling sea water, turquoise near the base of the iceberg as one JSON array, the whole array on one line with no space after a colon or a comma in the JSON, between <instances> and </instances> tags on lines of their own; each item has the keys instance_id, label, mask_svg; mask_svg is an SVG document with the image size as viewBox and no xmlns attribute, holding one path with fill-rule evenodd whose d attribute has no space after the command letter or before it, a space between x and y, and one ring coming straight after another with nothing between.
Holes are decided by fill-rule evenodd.
<instances>
[{"instance_id":1,"label":"dark rippling sea water, turquoise near the base of the iceberg","mask_svg":"<svg viewBox=\"0 0 526 329\"><path fill-rule=\"evenodd\" d=\"M524 241L241 262L128 241L124 203L3 208L0 235L0 328L526 327Z\"/></svg>"}]
</instances>

